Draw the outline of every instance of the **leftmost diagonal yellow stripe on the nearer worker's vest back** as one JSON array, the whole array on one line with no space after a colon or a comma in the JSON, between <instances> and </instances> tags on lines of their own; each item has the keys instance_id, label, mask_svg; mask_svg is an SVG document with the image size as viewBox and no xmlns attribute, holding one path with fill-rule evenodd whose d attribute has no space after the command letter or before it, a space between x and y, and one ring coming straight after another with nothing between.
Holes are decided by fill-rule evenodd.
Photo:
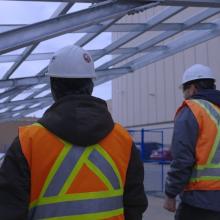
<instances>
[{"instance_id":1,"label":"leftmost diagonal yellow stripe on the nearer worker's vest back","mask_svg":"<svg viewBox=\"0 0 220 220\"><path fill-rule=\"evenodd\" d=\"M59 154L58 158L56 159L56 162L54 163L52 169L50 170L49 175L47 176L47 179L44 183L44 186L42 188L42 191L40 193L40 196L38 198L37 201L41 200L49 186L49 184L51 183L54 175L56 174L57 170L59 169L61 163L63 162L64 158L66 157L66 155L68 154L68 152L70 151L72 145L70 143L65 142L65 145L63 147L63 150L61 151L61 153ZM37 205L37 201L34 201L30 204L29 208L32 208L33 206Z\"/></svg>"}]
</instances>

